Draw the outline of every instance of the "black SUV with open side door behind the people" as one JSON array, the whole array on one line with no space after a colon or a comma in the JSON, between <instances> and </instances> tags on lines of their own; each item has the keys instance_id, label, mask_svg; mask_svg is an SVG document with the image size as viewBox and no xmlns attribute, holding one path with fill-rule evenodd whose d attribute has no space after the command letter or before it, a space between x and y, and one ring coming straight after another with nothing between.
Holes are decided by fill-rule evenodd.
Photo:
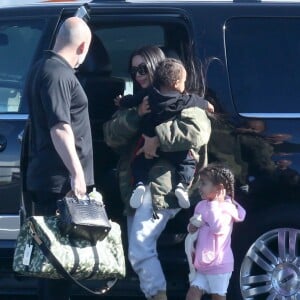
<instances>
[{"instance_id":1,"label":"black SUV with open side door behind the people","mask_svg":"<svg viewBox=\"0 0 300 300\"><path fill-rule=\"evenodd\" d=\"M1 294L33 294L36 288L34 280L15 279L11 271L22 198L26 74L53 46L60 23L83 4L46 2L0 9ZM236 198L247 210L245 222L234 228L228 299L299 299L300 3L103 0L89 8L93 43L77 74L89 97L96 186L110 217L125 233L115 180L118 157L103 142L102 124L115 111L114 96L132 93L129 54L156 44L186 65L196 57L206 66L218 115L209 161L232 168ZM184 238L191 213L179 213L159 241L170 296L183 297L188 288ZM107 295L141 296L129 266L126 279Z\"/></svg>"}]
</instances>

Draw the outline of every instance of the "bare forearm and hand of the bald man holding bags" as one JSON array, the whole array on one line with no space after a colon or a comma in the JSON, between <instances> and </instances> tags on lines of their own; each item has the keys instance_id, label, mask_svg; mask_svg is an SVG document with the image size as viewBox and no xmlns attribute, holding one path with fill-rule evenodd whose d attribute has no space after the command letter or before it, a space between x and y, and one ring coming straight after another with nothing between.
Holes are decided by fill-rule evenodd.
<instances>
[{"instance_id":1,"label":"bare forearm and hand of the bald man holding bags","mask_svg":"<svg viewBox=\"0 0 300 300\"><path fill-rule=\"evenodd\" d=\"M67 123L58 123L50 130L55 150L71 175L71 188L76 196L86 194L84 172L75 148L72 128Z\"/></svg>"}]
</instances>

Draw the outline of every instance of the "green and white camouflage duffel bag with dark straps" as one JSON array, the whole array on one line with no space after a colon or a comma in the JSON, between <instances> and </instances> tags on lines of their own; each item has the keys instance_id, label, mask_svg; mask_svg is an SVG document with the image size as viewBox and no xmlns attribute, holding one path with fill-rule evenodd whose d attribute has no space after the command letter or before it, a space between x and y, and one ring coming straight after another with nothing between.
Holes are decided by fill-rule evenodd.
<instances>
[{"instance_id":1,"label":"green and white camouflage duffel bag with dark straps","mask_svg":"<svg viewBox=\"0 0 300 300\"><path fill-rule=\"evenodd\" d=\"M14 252L14 272L30 277L65 278L89 292L102 294L125 277L125 258L119 224L111 222L108 235L96 244L62 235L56 216L25 220ZM108 279L100 291L91 291L78 280Z\"/></svg>"}]
</instances>

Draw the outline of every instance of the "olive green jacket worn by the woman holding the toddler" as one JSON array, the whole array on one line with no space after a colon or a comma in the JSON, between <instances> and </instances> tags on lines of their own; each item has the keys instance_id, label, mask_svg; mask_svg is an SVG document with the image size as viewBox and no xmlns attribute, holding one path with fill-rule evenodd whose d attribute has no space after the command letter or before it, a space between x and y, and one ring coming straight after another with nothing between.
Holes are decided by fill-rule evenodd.
<instances>
[{"instance_id":1,"label":"olive green jacket worn by the woman holding the toddler","mask_svg":"<svg viewBox=\"0 0 300 300\"><path fill-rule=\"evenodd\" d=\"M130 162L140 137L139 123L140 117L136 109L132 108L118 110L103 126L106 144L120 155L118 179L121 196L125 203L125 214L133 212L129 206L132 194ZM204 166L207 161L206 145L211 134L210 120L204 110L198 107L184 109L175 120L162 123L155 130L161 151L191 149L199 161L197 169ZM172 188L175 186L174 174L174 166L162 158L158 158L150 170L149 182L154 210L178 207ZM198 179L198 176L195 176L189 190L191 202L193 202L193 196L197 194Z\"/></svg>"}]
</instances>

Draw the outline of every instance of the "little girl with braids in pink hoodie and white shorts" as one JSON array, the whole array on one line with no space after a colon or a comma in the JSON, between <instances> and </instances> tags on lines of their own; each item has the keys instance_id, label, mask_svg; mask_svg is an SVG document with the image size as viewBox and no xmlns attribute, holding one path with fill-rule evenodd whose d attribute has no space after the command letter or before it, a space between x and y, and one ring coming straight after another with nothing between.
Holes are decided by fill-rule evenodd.
<instances>
[{"instance_id":1,"label":"little girl with braids in pink hoodie and white shorts","mask_svg":"<svg viewBox=\"0 0 300 300\"><path fill-rule=\"evenodd\" d=\"M205 200L196 205L188 224L186 252L192 263L186 300L200 300L204 293L211 294L213 300L224 300L234 264L233 223L243 221L246 212L234 200L234 175L229 169L209 165L200 178L199 191ZM187 249L192 235L197 236L193 253Z\"/></svg>"}]
</instances>

